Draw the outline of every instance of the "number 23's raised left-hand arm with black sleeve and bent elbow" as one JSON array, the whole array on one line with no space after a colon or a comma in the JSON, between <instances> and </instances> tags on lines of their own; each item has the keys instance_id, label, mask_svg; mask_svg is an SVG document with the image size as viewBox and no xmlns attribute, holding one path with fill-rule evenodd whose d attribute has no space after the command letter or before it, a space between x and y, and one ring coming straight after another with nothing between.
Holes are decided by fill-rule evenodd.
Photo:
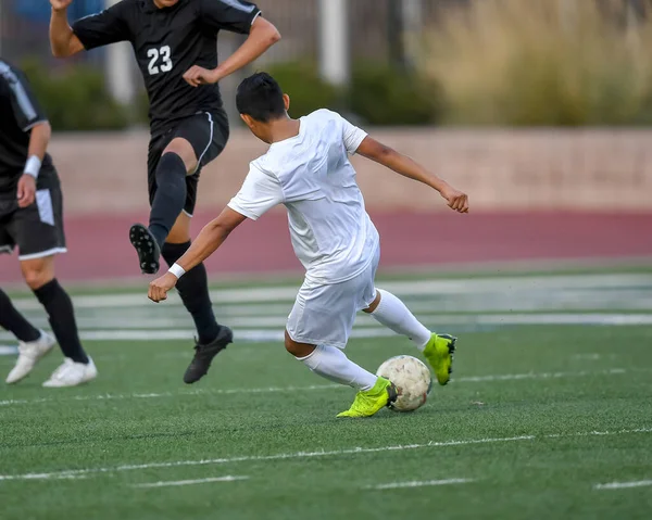
<instances>
[{"instance_id":1,"label":"number 23's raised left-hand arm with black sleeve and bent elbow","mask_svg":"<svg viewBox=\"0 0 652 520\"><path fill-rule=\"evenodd\" d=\"M123 17L125 5L116 3L104 11L77 20L72 26L67 8L73 0L50 0L50 47L55 58L68 58L83 50L91 50L130 38Z\"/></svg>"}]
</instances>

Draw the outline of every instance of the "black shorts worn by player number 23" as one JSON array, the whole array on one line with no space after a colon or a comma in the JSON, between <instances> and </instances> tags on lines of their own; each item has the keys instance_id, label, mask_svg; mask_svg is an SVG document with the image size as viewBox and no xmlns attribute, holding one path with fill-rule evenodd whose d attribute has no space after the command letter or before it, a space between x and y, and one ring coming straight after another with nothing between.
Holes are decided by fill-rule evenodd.
<instances>
[{"instance_id":1,"label":"black shorts worn by player number 23","mask_svg":"<svg viewBox=\"0 0 652 520\"><path fill-rule=\"evenodd\" d=\"M228 118L223 110L198 112L176 123L163 134L152 136L147 160L147 179L150 205L156 193L156 167L163 151L173 139L186 139L195 150L199 164L191 175L186 176L186 203L184 212L192 216L197 203L197 185L201 168L222 153L228 141Z\"/></svg>"}]
</instances>

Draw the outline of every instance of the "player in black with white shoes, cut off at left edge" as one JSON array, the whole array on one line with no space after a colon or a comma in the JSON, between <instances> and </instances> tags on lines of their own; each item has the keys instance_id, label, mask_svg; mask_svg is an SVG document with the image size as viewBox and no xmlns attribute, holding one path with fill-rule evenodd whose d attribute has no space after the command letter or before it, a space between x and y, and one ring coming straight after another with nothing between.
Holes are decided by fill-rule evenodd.
<instances>
[{"instance_id":1,"label":"player in black with white shoes, cut off at left edge","mask_svg":"<svg viewBox=\"0 0 652 520\"><path fill-rule=\"evenodd\" d=\"M46 308L65 362L43 386L75 386L97 377L79 342L73 304L54 278L54 255L65 253L63 202L50 155L50 125L21 71L0 60L0 253L17 245L25 281ZM25 378L55 341L38 330L0 291L0 327L18 340L8 383Z\"/></svg>"}]
</instances>

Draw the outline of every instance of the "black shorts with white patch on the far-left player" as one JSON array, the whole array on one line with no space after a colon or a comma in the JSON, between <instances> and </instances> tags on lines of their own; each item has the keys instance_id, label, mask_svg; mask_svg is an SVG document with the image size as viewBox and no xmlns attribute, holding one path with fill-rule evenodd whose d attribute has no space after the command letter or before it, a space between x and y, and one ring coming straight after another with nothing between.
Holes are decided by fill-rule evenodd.
<instances>
[{"instance_id":1,"label":"black shorts with white patch on the far-left player","mask_svg":"<svg viewBox=\"0 0 652 520\"><path fill-rule=\"evenodd\" d=\"M67 251L59 180L37 187L36 200L27 207L18 207L14 193L0 193L0 253L11 253L16 245L21 261Z\"/></svg>"}]
</instances>

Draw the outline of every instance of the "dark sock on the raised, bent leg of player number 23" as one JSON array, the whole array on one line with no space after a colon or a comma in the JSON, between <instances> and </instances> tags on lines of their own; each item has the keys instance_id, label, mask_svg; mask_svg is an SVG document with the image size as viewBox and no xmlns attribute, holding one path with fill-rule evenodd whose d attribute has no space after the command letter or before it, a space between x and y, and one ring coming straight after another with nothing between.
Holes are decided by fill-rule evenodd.
<instances>
[{"instance_id":1,"label":"dark sock on the raised, bent leg of player number 23","mask_svg":"<svg viewBox=\"0 0 652 520\"><path fill-rule=\"evenodd\" d=\"M186 165L176 153L168 152L161 157L156 167L156 193L149 224L149 230L161 249L185 203Z\"/></svg>"}]
</instances>

